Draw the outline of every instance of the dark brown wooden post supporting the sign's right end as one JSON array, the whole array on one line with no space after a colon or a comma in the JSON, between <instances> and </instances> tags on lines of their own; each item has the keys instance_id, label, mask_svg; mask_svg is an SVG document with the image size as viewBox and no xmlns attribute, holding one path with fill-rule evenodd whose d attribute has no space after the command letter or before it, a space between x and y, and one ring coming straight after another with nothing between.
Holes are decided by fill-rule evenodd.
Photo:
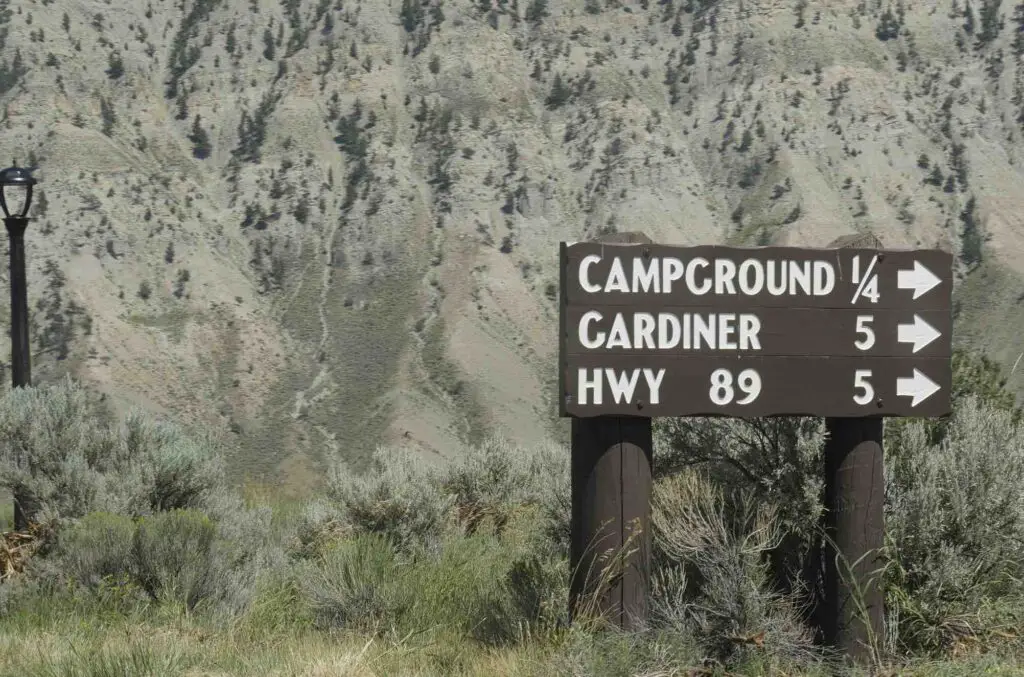
<instances>
[{"instance_id":1,"label":"dark brown wooden post supporting the sign's right end","mask_svg":"<svg viewBox=\"0 0 1024 677\"><path fill-rule=\"evenodd\" d=\"M871 235L848 236L834 248L881 248ZM884 591L878 569L885 544L883 420L825 419L820 636L855 662L871 658L884 636ZM830 543L829 543L830 541Z\"/></svg>"}]
</instances>

